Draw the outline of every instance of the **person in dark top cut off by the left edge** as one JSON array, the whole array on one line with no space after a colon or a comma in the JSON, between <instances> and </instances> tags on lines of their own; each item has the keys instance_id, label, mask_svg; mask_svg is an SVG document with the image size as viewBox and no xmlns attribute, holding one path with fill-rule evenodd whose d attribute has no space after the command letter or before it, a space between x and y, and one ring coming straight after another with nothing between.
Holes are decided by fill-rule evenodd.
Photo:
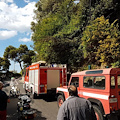
<instances>
[{"instance_id":1,"label":"person in dark top cut off by the left edge","mask_svg":"<svg viewBox=\"0 0 120 120\"><path fill-rule=\"evenodd\" d=\"M0 120L6 120L7 115L7 103L10 102L7 94L2 91L3 83L0 81Z\"/></svg>"}]
</instances>

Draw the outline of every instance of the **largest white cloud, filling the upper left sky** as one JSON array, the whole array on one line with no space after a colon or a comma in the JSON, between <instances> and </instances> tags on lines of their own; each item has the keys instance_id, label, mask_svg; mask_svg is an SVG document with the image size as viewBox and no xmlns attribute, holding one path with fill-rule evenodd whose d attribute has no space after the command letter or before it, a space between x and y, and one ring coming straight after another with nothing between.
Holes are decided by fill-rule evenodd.
<instances>
[{"instance_id":1,"label":"largest white cloud, filling the upper left sky","mask_svg":"<svg viewBox=\"0 0 120 120\"><path fill-rule=\"evenodd\" d=\"M7 2L11 1L11 4ZM6 2L6 3L5 3ZM31 32L31 22L33 21L33 10L35 2L28 3L25 7L19 8L12 0L0 2L0 29L17 32Z\"/></svg>"}]
</instances>

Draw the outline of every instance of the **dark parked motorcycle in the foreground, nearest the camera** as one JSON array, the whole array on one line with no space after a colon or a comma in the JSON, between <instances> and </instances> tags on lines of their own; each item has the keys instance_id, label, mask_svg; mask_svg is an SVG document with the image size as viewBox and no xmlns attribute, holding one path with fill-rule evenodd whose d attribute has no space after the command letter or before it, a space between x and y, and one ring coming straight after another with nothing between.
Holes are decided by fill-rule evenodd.
<instances>
[{"instance_id":1,"label":"dark parked motorcycle in the foreground, nearest the camera","mask_svg":"<svg viewBox=\"0 0 120 120\"><path fill-rule=\"evenodd\" d=\"M30 107L30 97L28 95L22 95L18 99L18 120L34 120L36 111Z\"/></svg>"}]
</instances>

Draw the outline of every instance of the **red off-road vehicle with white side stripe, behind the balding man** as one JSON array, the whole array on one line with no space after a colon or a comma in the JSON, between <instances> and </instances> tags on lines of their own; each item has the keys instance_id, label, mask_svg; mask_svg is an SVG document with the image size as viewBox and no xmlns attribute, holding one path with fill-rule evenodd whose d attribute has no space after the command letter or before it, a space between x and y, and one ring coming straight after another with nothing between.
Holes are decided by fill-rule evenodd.
<instances>
[{"instance_id":1,"label":"red off-road vehicle with white side stripe, behind the balding man","mask_svg":"<svg viewBox=\"0 0 120 120\"><path fill-rule=\"evenodd\" d=\"M92 103L97 120L120 119L120 68L76 72L71 75L68 86L72 84L80 97ZM68 98L68 86L57 87L59 107Z\"/></svg>"}]
</instances>

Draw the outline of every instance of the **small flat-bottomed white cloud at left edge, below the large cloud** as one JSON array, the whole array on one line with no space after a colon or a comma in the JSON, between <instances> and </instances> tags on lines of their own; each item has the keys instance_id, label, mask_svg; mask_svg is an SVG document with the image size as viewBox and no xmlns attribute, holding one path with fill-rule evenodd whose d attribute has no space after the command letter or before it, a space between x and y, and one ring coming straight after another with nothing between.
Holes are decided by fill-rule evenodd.
<instances>
[{"instance_id":1,"label":"small flat-bottomed white cloud at left edge, below the large cloud","mask_svg":"<svg viewBox=\"0 0 120 120\"><path fill-rule=\"evenodd\" d=\"M0 40L9 39L17 35L17 31L0 31Z\"/></svg>"}]
</instances>

